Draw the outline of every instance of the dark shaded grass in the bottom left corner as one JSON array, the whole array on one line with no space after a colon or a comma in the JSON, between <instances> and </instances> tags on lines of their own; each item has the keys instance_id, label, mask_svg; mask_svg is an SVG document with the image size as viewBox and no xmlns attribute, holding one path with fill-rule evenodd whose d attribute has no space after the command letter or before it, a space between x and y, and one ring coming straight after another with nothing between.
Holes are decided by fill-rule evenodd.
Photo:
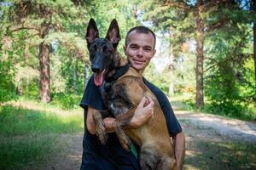
<instances>
[{"instance_id":1,"label":"dark shaded grass in the bottom left corner","mask_svg":"<svg viewBox=\"0 0 256 170\"><path fill-rule=\"evenodd\" d=\"M28 165L44 163L50 156L61 151L54 135L40 133L26 136L1 137L0 169L23 169Z\"/></svg>"}]
</instances>

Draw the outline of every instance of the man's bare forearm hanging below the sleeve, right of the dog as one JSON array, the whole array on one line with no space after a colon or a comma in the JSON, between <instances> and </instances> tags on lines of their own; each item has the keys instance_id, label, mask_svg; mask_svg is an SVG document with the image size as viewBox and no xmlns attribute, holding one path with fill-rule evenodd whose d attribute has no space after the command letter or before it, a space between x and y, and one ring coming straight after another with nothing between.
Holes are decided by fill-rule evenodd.
<instances>
[{"instance_id":1,"label":"man's bare forearm hanging below the sleeve, right of the dog","mask_svg":"<svg viewBox=\"0 0 256 170\"><path fill-rule=\"evenodd\" d=\"M184 133L177 133L174 139L174 150L177 161L177 170L183 169L183 161L185 157L185 136Z\"/></svg>"}]
</instances>

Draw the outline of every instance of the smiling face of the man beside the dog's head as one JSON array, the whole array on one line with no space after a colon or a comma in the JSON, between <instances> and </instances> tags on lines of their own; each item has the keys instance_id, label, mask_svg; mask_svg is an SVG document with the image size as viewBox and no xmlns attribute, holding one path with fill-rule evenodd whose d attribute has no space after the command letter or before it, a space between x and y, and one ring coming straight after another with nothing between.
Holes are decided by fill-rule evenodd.
<instances>
[{"instance_id":1,"label":"smiling face of the man beside the dog's head","mask_svg":"<svg viewBox=\"0 0 256 170\"><path fill-rule=\"evenodd\" d=\"M124 50L131 66L137 71L143 72L155 54L154 37L151 33L131 31L127 47L124 47Z\"/></svg>"}]
</instances>

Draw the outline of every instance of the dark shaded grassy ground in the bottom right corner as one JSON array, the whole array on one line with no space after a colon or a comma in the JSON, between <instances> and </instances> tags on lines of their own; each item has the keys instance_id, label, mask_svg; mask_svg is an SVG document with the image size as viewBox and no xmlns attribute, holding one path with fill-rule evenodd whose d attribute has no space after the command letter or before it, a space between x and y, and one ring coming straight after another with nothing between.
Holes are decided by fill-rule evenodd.
<instances>
[{"instance_id":1,"label":"dark shaded grassy ground in the bottom right corner","mask_svg":"<svg viewBox=\"0 0 256 170\"><path fill-rule=\"evenodd\" d=\"M241 142L191 141L184 169L256 169L256 146Z\"/></svg>"}]
</instances>

